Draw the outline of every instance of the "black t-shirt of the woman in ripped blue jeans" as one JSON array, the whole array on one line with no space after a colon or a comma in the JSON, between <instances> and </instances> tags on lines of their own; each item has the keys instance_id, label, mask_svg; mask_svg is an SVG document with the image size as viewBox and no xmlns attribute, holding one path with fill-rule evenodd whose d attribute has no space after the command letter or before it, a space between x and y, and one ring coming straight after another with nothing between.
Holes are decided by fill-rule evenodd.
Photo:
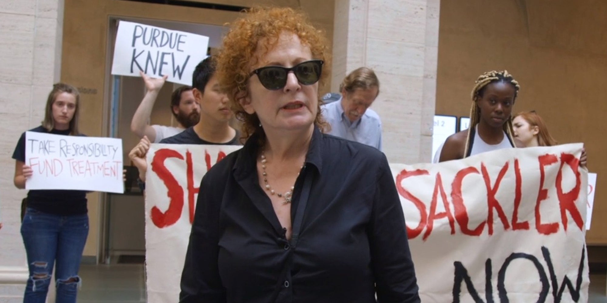
<instances>
[{"instance_id":1,"label":"black t-shirt of the woman in ripped blue jeans","mask_svg":"<svg viewBox=\"0 0 607 303\"><path fill-rule=\"evenodd\" d=\"M39 126L29 132L52 133L54 135L69 135L69 130L50 132ZM25 132L17 142L13 159L25 163ZM27 163L25 163L27 165ZM86 191L84 190L30 190L27 192L27 206L43 213L59 216L84 215L87 213Z\"/></svg>"}]
</instances>

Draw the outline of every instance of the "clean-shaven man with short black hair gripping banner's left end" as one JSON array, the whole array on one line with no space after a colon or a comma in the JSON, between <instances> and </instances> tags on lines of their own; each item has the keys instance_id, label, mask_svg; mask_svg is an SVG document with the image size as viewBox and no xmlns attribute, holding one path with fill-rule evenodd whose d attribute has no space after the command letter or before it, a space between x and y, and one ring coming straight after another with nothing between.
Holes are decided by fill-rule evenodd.
<instances>
[{"instance_id":1,"label":"clean-shaven man with short black hair gripping banner's left end","mask_svg":"<svg viewBox=\"0 0 607 303\"><path fill-rule=\"evenodd\" d=\"M212 57L201 61L192 75L192 93L200 104L200 119L196 125L177 135L164 138L167 144L207 144L240 145L239 132L229 125L232 111L228 106L228 96L221 92L215 77L215 63ZM146 153L150 141L144 137L129 153L129 158L139 170L139 182L143 184L148 169Z\"/></svg>"}]
</instances>

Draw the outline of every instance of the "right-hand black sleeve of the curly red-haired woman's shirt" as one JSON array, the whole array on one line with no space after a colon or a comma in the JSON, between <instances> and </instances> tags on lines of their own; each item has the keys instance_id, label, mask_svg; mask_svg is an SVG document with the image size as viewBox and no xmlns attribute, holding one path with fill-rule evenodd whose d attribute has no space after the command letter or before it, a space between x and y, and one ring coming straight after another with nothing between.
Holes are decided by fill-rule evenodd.
<instances>
[{"instance_id":1,"label":"right-hand black sleeve of the curly red-haired woman's shirt","mask_svg":"<svg viewBox=\"0 0 607 303\"><path fill-rule=\"evenodd\" d=\"M401 201L382 156L368 230L378 302L420 302Z\"/></svg>"}]
</instances>

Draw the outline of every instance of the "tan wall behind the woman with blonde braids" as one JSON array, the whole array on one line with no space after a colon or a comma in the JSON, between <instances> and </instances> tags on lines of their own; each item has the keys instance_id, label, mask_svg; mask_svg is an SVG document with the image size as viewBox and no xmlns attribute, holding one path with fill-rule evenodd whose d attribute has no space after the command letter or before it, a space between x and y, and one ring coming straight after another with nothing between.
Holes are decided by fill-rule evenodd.
<instances>
[{"instance_id":1,"label":"tan wall behind the woman with blonde braids","mask_svg":"<svg viewBox=\"0 0 607 303\"><path fill-rule=\"evenodd\" d=\"M514 112L537 110L559 142L584 142L598 173L589 244L607 244L607 2L442 1L436 113L468 116L478 75L520 82Z\"/></svg>"}]
</instances>

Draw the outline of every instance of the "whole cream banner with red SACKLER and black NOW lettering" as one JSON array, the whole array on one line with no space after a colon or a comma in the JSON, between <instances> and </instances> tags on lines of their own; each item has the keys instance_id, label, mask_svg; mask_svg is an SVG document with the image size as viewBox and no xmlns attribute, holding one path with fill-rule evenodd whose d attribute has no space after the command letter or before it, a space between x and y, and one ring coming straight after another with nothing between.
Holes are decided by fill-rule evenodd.
<instances>
[{"instance_id":1,"label":"whole cream banner with red SACKLER and black NOW lettering","mask_svg":"<svg viewBox=\"0 0 607 303\"><path fill-rule=\"evenodd\" d=\"M200 180L237 146L152 144L148 302L175 302ZM422 302L586 302L582 144L391 164Z\"/></svg>"}]
</instances>

